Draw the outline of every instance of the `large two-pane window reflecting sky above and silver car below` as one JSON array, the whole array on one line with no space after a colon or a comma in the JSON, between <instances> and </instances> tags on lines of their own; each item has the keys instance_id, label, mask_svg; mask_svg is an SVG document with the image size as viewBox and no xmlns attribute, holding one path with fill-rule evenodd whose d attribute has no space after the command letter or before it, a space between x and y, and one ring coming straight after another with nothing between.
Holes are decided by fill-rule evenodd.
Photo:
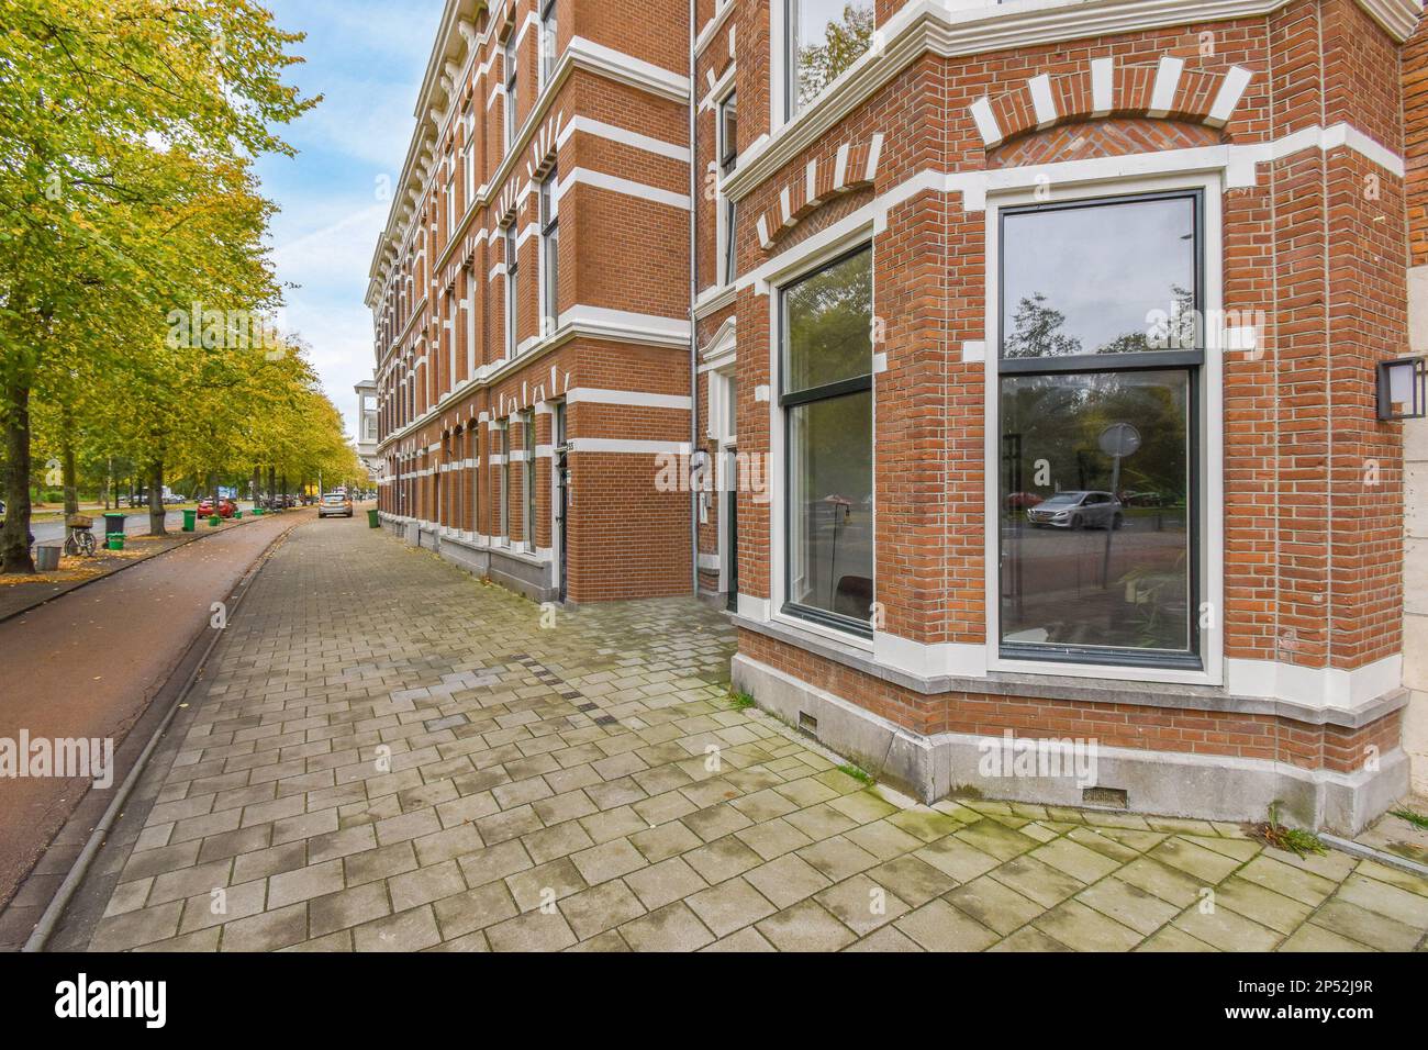
<instances>
[{"instance_id":1,"label":"large two-pane window reflecting sky above and silver car below","mask_svg":"<svg viewBox=\"0 0 1428 1050\"><path fill-rule=\"evenodd\" d=\"M1000 214L1001 653L1198 667L1201 197Z\"/></svg>"}]
</instances>

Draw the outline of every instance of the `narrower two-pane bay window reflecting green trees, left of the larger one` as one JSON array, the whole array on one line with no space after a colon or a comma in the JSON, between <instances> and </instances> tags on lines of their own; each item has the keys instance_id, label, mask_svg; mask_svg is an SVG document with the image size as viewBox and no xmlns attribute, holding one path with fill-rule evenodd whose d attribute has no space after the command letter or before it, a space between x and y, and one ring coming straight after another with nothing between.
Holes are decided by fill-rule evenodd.
<instances>
[{"instance_id":1,"label":"narrower two-pane bay window reflecting green trees, left of the larger one","mask_svg":"<svg viewBox=\"0 0 1428 1050\"><path fill-rule=\"evenodd\" d=\"M873 606L873 250L781 294L787 611L868 634Z\"/></svg>"}]
</instances>

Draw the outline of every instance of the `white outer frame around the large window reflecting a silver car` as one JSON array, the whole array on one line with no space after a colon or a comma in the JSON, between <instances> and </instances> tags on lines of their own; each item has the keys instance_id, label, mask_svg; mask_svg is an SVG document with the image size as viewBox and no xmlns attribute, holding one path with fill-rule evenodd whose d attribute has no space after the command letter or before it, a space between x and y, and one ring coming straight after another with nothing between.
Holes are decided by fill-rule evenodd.
<instances>
[{"instance_id":1,"label":"white outer frame around the large window reflecting a silver car","mask_svg":"<svg viewBox=\"0 0 1428 1050\"><path fill-rule=\"evenodd\" d=\"M1030 179L1028 179L1030 181ZM1055 200L1098 200L1105 197L1131 196L1140 193L1164 193L1174 190L1201 190L1204 201L1204 267L1205 289L1202 310L1207 319L1222 316L1224 310L1224 174L1197 173L1185 176L1115 179L1085 177L1080 183L1061 179L1055 184ZM998 347L1001 344L1001 210L1038 201L1038 187L1027 186L988 194L985 213L987 237L987 353L985 353L985 520L998 520L1000 471L1000 373ZM1044 191L1042 191L1044 196ZM1104 663L1071 663L1054 660L1008 660L1001 656L1001 587L998 559L1000 547L995 530L987 530L985 546L985 620L987 620L987 669L991 671L1014 671L1018 674L1058 674L1114 681L1161 681L1191 686L1220 686L1224 683L1224 389L1222 389L1222 331L1215 323L1205 324L1205 363L1201 367L1200 389L1200 476L1202 490L1198 493L1198 527L1201 537L1201 586L1198 599L1208 603L1212 616L1208 626L1200 630L1202 670L1175 667L1128 667ZM1191 610L1200 616L1200 610Z\"/></svg>"}]
</instances>

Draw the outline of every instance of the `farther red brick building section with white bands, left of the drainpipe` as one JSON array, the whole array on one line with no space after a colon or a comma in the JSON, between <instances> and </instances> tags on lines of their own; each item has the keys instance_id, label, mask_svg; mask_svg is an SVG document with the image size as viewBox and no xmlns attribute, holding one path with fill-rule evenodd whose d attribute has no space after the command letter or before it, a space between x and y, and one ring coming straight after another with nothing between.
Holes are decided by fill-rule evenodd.
<instances>
[{"instance_id":1,"label":"farther red brick building section with white bands, left of the drainpipe","mask_svg":"<svg viewBox=\"0 0 1428 1050\"><path fill-rule=\"evenodd\" d=\"M448 3L371 266L387 526L541 601L691 590L688 13L641 11Z\"/></svg>"}]
</instances>

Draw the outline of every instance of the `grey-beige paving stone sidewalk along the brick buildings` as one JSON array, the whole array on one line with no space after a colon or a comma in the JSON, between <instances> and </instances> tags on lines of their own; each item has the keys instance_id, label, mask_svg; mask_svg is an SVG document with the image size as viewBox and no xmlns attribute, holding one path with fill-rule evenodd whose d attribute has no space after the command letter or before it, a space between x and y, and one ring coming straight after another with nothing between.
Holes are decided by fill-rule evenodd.
<instances>
[{"instance_id":1,"label":"grey-beige paving stone sidewalk along the brick buildings","mask_svg":"<svg viewBox=\"0 0 1428 1050\"><path fill-rule=\"evenodd\" d=\"M94 949L1422 950L1428 881L1235 826L888 801L715 611L561 611L358 523L230 626ZM221 890L221 893L220 893Z\"/></svg>"}]
</instances>

